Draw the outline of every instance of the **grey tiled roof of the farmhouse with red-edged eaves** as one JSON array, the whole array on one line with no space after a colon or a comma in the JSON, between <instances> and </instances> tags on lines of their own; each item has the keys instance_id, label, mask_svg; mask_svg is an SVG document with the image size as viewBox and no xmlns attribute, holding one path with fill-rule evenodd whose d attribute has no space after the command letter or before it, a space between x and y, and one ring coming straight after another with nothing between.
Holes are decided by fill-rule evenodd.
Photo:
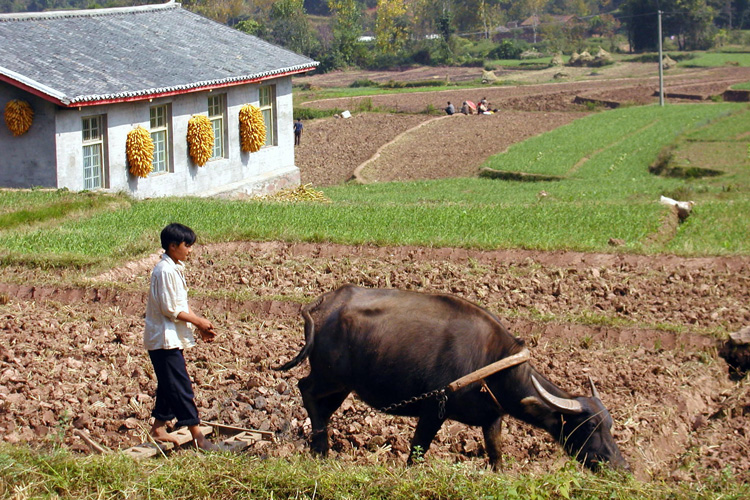
<instances>
[{"instance_id":1,"label":"grey tiled roof of the farmhouse with red-edged eaves","mask_svg":"<svg viewBox=\"0 0 750 500\"><path fill-rule=\"evenodd\" d=\"M175 3L0 15L0 80L64 105L231 85L316 65Z\"/></svg>"}]
</instances>

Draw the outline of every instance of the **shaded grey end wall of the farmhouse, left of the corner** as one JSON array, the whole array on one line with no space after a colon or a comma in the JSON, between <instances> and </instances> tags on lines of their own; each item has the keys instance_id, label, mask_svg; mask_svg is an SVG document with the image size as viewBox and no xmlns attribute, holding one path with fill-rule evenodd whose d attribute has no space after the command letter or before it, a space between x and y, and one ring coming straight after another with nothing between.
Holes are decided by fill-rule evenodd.
<instances>
[{"instance_id":1,"label":"shaded grey end wall of the farmhouse, left of the corner","mask_svg":"<svg viewBox=\"0 0 750 500\"><path fill-rule=\"evenodd\" d=\"M31 128L19 136L13 135L5 120L0 125L0 186L56 187L55 105L0 82L0 110L13 99L28 102L34 117Z\"/></svg>"}]
</instances>

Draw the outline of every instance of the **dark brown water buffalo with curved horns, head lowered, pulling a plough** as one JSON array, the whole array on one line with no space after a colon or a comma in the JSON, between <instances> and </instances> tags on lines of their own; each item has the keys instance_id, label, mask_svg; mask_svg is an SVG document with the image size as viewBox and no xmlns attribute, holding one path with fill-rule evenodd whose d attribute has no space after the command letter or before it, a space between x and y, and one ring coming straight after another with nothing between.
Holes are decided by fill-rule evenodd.
<instances>
[{"instance_id":1,"label":"dark brown water buffalo with curved horns, head lowered, pulling a plough","mask_svg":"<svg viewBox=\"0 0 750 500\"><path fill-rule=\"evenodd\" d=\"M603 462L628 468L593 382L591 397L573 397L528 362L486 377L489 392L473 383L448 394L443 408L436 397L394 406L524 349L523 341L482 307L452 295L344 285L304 306L302 316L305 345L277 369L310 359L310 374L299 388L316 453L328 452L328 421L354 391L377 409L419 417L410 462L417 447L426 452L443 422L452 419L482 427L496 469L502 418L509 414L549 432L591 469Z\"/></svg>"}]
</instances>

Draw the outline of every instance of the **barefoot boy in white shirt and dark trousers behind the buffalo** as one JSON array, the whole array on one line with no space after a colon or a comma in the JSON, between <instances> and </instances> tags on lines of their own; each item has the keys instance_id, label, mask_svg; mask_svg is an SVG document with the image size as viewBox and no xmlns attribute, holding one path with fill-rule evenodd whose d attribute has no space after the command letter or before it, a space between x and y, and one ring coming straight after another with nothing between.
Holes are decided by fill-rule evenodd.
<instances>
[{"instance_id":1,"label":"barefoot boy in white shirt and dark trousers behind the buffalo","mask_svg":"<svg viewBox=\"0 0 750 500\"><path fill-rule=\"evenodd\" d=\"M151 286L146 304L143 346L148 351L156 375L156 398L151 416L150 435L156 441L177 439L167 432L167 422L177 419L176 427L187 426L198 448L218 451L200 430L193 383L188 375L183 350L195 345L193 328L204 342L216 337L214 325L190 309L185 283L185 265L193 250L196 235L182 224L169 224L161 232L164 253L151 271Z\"/></svg>"}]
</instances>

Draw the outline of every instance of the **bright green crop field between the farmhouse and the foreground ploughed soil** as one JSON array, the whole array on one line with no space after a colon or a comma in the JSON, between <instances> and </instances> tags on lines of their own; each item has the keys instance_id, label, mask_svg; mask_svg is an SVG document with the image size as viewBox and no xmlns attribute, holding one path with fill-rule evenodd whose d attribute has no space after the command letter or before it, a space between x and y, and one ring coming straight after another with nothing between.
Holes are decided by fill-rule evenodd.
<instances>
[{"instance_id":1,"label":"bright green crop field between the farmhouse and the foreground ploughed soil","mask_svg":"<svg viewBox=\"0 0 750 500\"><path fill-rule=\"evenodd\" d=\"M158 247L156 234L179 220L203 242L328 241L479 249L618 251L682 255L750 254L750 163L740 154L725 175L675 178L649 173L665 148L750 144L750 119L738 104L648 106L606 111L532 138L486 166L559 175L560 181L482 178L341 185L332 203L166 198L67 191L0 192L0 258L42 266L106 266ZM744 148L744 149L743 149ZM687 149L686 149L687 151ZM695 153L693 157L695 156ZM685 155L683 155L685 156ZM692 160L725 161L716 149ZM544 193L542 195L541 193ZM694 216L663 246L650 243L666 195L696 201Z\"/></svg>"}]
</instances>

